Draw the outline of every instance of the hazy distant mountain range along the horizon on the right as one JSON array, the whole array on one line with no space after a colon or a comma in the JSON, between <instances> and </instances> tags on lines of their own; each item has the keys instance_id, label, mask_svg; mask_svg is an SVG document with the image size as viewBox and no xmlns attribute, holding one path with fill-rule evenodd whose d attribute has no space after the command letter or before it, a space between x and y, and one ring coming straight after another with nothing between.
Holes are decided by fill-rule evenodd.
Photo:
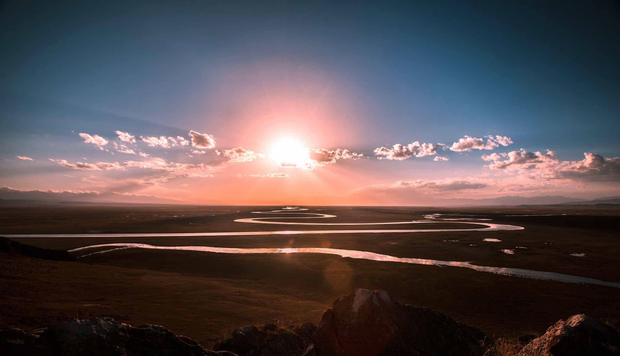
<instances>
[{"instance_id":1,"label":"hazy distant mountain range along the horizon on the right","mask_svg":"<svg viewBox=\"0 0 620 356\"><path fill-rule=\"evenodd\" d=\"M547 205L547 204L600 204L600 203L620 203L620 196L610 196L596 199L569 198L566 196L500 196L498 198L486 199L467 199L450 198L436 199L438 205Z\"/></svg>"}]
</instances>

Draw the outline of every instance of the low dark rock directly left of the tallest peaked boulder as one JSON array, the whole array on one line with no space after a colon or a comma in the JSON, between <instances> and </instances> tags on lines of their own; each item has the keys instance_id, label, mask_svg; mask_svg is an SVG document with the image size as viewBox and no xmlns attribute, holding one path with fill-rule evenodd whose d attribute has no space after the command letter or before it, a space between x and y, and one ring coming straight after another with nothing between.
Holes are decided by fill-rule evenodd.
<instances>
[{"instance_id":1,"label":"low dark rock directly left of the tallest peaked boulder","mask_svg":"<svg viewBox=\"0 0 620 356\"><path fill-rule=\"evenodd\" d=\"M215 350L248 356L301 356L312 344L314 331L316 326L310 323L293 324L287 328L276 324L267 324L260 329L244 326L216 344Z\"/></svg>"}]
</instances>

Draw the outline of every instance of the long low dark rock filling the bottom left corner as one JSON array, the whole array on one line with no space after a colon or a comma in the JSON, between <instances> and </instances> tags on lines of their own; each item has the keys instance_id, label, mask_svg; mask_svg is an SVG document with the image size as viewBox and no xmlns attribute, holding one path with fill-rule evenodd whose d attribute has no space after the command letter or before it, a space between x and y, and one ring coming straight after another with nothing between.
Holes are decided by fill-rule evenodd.
<instances>
[{"instance_id":1,"label":"long low dark rock filling the bottom left corner","mask_svg":"<svg viewBox=\"0 0 620 356\"><path fill-rule=\"evenodd\" d=\"M235 356L205 350L198 342L162 326L133 328L112 318L76 319L34 332L6 329L0 331L0 350L6 350L4 355Z\"/></svg>"}]
</instances>

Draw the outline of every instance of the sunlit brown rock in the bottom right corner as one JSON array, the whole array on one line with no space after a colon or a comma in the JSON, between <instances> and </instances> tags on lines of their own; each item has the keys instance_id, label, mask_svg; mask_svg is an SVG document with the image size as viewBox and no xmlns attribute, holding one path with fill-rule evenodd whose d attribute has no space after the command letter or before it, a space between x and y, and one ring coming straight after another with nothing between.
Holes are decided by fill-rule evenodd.
<instances>
[{"instance_id":1,"label":"sunlit brown rock in the bottom right corner","mask_svg":"<svg viewBox=\"0 0 620 356\"><path fill-rule=\"evenodd\" d=\"M620 336L591 316L560 320L525 345L518 356L620 355Z\"/></svg>"}]
</instances>

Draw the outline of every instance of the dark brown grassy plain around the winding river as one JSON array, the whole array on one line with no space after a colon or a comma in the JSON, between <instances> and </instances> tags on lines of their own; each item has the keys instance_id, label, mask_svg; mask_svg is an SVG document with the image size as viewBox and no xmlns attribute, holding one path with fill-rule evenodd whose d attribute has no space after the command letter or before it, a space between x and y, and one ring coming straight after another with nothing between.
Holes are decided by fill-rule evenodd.
<instances>
[{"instance_id":1,"label":"dark brown grassy plain around the winding river","mask_svg":"<svg viewBox=\"0 0 620 356\"><path fill-rule=\"evenodd\" d=\"M277 209L281 207L3 206L0 207L0 235L467 226L437 222L423 227L351 227L233 221L284 216L251 213ZM534 269L620 282L620 209L613 207L309 209L308 212L337 217L286 221L393 222L421 220L424 215L433 213L474 214L497 224L523 226L525 230L14 240L58 250L116 242L230 248L330 247L397 257L470 261L481 266ZM546 214L567 215L505 216ZM295 215L287 217L292 216ZM484 238L502 241L487 242L482 240ZM514 250L515 254L500 251L504 249ZM570 253L585 253L585 256L570 256ZM84 253L76 253L76 256L81 254ZM329 254L223 254L132 248L93 254L79 258L78 262L5 255L0 259L0 271L4 300L0 327L32 329L77 316L112 315L130 324L162 324L203 343L246 324L274 320L317 323L335 298L356 288L387 290L400 302L443 311L495 336L541 333L549 324L576 313L601 318L620 315L620 289L612 287Z\"/></svg>"}]
</instances>

